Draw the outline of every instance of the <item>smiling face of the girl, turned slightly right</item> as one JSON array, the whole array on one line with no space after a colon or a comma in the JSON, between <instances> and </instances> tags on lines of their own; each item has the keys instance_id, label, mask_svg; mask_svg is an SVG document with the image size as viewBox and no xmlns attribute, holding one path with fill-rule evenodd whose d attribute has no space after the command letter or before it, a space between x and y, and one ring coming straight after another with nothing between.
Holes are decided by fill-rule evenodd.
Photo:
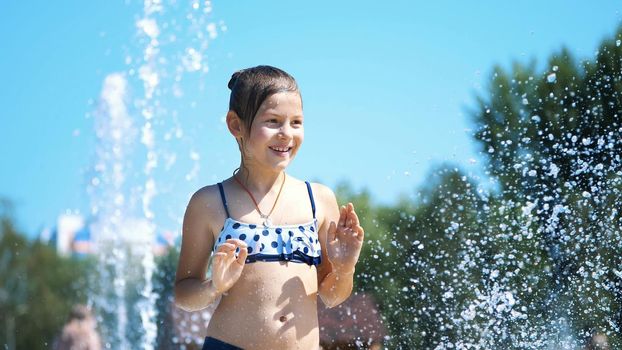
<instances>
[{"instance_id":1,"label":"smiling face of the girl, turned slightly right","mask_svg":"<svg viewBox=\"0 0 622 350\"><path fill-rule=\"evenodd\" d=\"M297 92L271 95L259 107L250 135L244 140L245 159L283 170L296 156L303 139L300 95Z\"/></svg>"}]
</instances>

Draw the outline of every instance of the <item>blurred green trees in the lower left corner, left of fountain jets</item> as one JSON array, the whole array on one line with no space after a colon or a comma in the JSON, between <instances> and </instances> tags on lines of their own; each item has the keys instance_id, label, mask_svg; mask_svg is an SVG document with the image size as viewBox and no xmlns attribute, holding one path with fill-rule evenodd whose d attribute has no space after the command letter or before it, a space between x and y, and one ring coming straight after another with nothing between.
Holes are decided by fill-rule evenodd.
<instances>
[{"instance_id":1,"label":"blurred green trees in the lower left corner, left of fountain jets","mask_svg":"<svg viewBox=\"0 0 622 350\"><path fill-rule=\"evenodd\" d=\"M47 349L71 307L86 301L89 261L60 257L30 242L0 208L0 344L6 349Z\"/></svg>"}]
</instances>

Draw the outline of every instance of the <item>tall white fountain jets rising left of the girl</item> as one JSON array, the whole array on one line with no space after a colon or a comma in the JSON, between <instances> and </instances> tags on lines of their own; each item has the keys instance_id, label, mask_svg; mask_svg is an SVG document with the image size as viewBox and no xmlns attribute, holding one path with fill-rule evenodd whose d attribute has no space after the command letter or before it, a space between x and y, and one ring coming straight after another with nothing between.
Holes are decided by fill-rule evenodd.
<instances>
[{"instance_id":1,"label":"tall white fountain jets rising left of the girl","mask_svg":"<svg viewBox=\"0 0 622 350\"><path fill-rule=\"evenodd\" d=\"M98 260L91 302L106 347L114 349L155 347L158 295L152 247L161 228L153 207L167 195L160 177L179 159L173 149L183 147L172 143L184 134L168 104L180 103L184 79L207 74L208 43L219 28L226 30L224 23L218 26L208 18L210 1L145 0L141 11L134 46L124 58L127 70L109 74L103 83L87 189ZM187 178L192 180L200 171L200 154L186 153L194 163Z\"/></svg>"}]
</instances>

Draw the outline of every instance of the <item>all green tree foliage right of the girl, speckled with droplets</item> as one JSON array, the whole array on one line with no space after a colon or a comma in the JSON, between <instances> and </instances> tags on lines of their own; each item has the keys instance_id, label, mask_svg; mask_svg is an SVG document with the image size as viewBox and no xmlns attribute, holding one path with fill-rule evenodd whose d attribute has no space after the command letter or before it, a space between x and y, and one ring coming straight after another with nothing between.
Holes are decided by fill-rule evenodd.
<instances>
[{"instance_id":1,"label":"all green tree foliage right of the girl, speckled with droplets","mask_svg":"<svg viewBox=\"0 0 622 350\"><path fill-rule=\"evenodd\" d=\"M447 164L415 201L364 198L356 287L380 301L391 346L622 345L621 39L591 60L494 68L471 113L493 188Z\"/></svg>"}]
</instances>

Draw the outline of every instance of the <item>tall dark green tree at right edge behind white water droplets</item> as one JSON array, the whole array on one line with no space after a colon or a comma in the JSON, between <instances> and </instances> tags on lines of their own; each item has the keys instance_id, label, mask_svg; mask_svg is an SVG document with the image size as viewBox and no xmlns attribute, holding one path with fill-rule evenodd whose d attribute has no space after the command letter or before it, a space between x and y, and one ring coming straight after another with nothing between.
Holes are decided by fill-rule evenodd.
<instances>
[{"instance_id":1,"label":"tall dark green tree at right edge behind white water droplets","mask_svg":"<svg viewBox=\"0 0 622 350\"><path fill-rule=\"evenodd\" d=\"M567 49L551 56L544 71L534 62L495 67L487 96L478 98L475 135L496 201L526 223L510 231L535 235L545 269L518 275L516 287L542 286L548 297L531 299L552 332L568 324L587 337L605 331L621 344L622 279L622 27L603 41L593 60L578 62ZM511 223L510 216L491 223ZM550 268L547 271L546 268ZM533 289L533 288L532 288ZM560 323L559 327L550 327ZM551 331L549 331L550 333ZM553 333L550 333L551 335Z\"/></svg>"}]
</instances>

